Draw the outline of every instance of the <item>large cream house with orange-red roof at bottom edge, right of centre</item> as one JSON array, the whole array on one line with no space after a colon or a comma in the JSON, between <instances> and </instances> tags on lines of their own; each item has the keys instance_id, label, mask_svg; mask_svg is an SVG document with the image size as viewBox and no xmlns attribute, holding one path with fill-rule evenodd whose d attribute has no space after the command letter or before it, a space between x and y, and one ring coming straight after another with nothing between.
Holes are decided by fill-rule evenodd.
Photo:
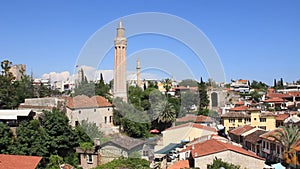
<instances>
[{"instance_id":1,"label":"large cream house with orange-red roof at bottom edge, right of centre","mask_svg":"<svg viewBox=\"0 0 300 169\"><path fill-rule=\"evenodd\" d=\"M206 169L207 164L212 164L213 160L221 158L223 161L240 165L241 168L258 169L264 168L265 159L249 152L242 147L229 143L217 141L215 139L207 140L188 146L181 152L190 154L190 159L194 166Z\"/></svg>"}]
</instances>

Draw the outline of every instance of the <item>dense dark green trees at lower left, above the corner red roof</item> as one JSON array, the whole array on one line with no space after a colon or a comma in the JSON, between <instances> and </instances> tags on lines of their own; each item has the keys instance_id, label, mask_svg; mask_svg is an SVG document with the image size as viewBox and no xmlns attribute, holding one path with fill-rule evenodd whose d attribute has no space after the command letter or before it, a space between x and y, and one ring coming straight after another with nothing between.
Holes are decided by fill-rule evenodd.
<instances>
[{"instance_id":1,"label":"dense dark green trees at lower left, above the corner red roof","mask_svg":"<svg viewBox=\"0 0 300 169\"><path fill-rule=\"evenodd\" d=\"M53 155L60 157L61 162L76 166L79 161L75 148L81 142L91 142L77 129L72 129L68 118L58 110L44 112L39 120L21 122L16 137L7 125L0 123L1 153L42 156L39 168L51 168L50 157Z\"/></svg>"}]
</instances>

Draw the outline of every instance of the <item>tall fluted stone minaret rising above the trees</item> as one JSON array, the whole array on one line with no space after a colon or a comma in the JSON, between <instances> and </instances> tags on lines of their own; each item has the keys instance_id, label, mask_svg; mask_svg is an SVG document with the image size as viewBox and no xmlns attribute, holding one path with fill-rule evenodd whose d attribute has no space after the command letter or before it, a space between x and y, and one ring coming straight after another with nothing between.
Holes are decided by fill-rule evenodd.
<instances>
[{"instance_id":1,"label":"tall fluted stone minaret rising above the trees","mask_svg":"<svg viewBox=\"0 0 300 169\"><path fill-rule=\"evenodd\" d=\"M127 102L126 86L126 47L127 39L125 38L125 29L120 19L115 38L114 54L114 98L120 97Z\"/></svg>"}]
</instances>

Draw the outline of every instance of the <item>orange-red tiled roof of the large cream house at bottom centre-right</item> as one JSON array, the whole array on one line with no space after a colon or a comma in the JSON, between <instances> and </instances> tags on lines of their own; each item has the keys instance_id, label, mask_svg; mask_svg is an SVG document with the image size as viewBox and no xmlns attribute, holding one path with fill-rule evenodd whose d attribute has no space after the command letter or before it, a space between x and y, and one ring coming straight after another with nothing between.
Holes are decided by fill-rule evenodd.
<instances>
[{"instance_id":1,"label":"orange-red tiled roof of the large cream house at bottom centre-right","mask_svg":"<svg viewBox=\"0 0 300 169\"><path fill-rule=\"evenodd\" d=\"M192 149L193 146L194 146L194 149ZM232 145L229 143L217 141L215 139L211 139L211 140L207 140L207 141L204 141L201 143L191 145L191 146L187 147L187 150L191 150L193 158L229 150L229 151L234 151L239 154L243 154L246 156L264 160L263 158L257 156L256 154L251 153L241 147L238 147L238 146L235 146L235 145Z\"/></svg>"}]
</instances>

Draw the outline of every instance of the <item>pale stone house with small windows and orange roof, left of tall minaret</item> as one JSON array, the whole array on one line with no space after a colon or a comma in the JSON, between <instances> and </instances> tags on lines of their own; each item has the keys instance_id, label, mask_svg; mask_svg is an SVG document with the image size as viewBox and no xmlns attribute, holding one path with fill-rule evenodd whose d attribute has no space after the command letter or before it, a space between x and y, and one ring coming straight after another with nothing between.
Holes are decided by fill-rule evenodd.
<instances>
[{"instance_id":1,"label":"pale stone house with small windows and orange roof, left of tall minaret","mask_svg":"<svg viewBox=\"0 0 300 169\"><path fill-rule=\"evenodd\" d=\"M71 126L77 126L82 120L87 120L96 123L105 133L112 132L113 106L104 97L85 95L68 97L66 109Z\"/></svg>"}]
</instances>

